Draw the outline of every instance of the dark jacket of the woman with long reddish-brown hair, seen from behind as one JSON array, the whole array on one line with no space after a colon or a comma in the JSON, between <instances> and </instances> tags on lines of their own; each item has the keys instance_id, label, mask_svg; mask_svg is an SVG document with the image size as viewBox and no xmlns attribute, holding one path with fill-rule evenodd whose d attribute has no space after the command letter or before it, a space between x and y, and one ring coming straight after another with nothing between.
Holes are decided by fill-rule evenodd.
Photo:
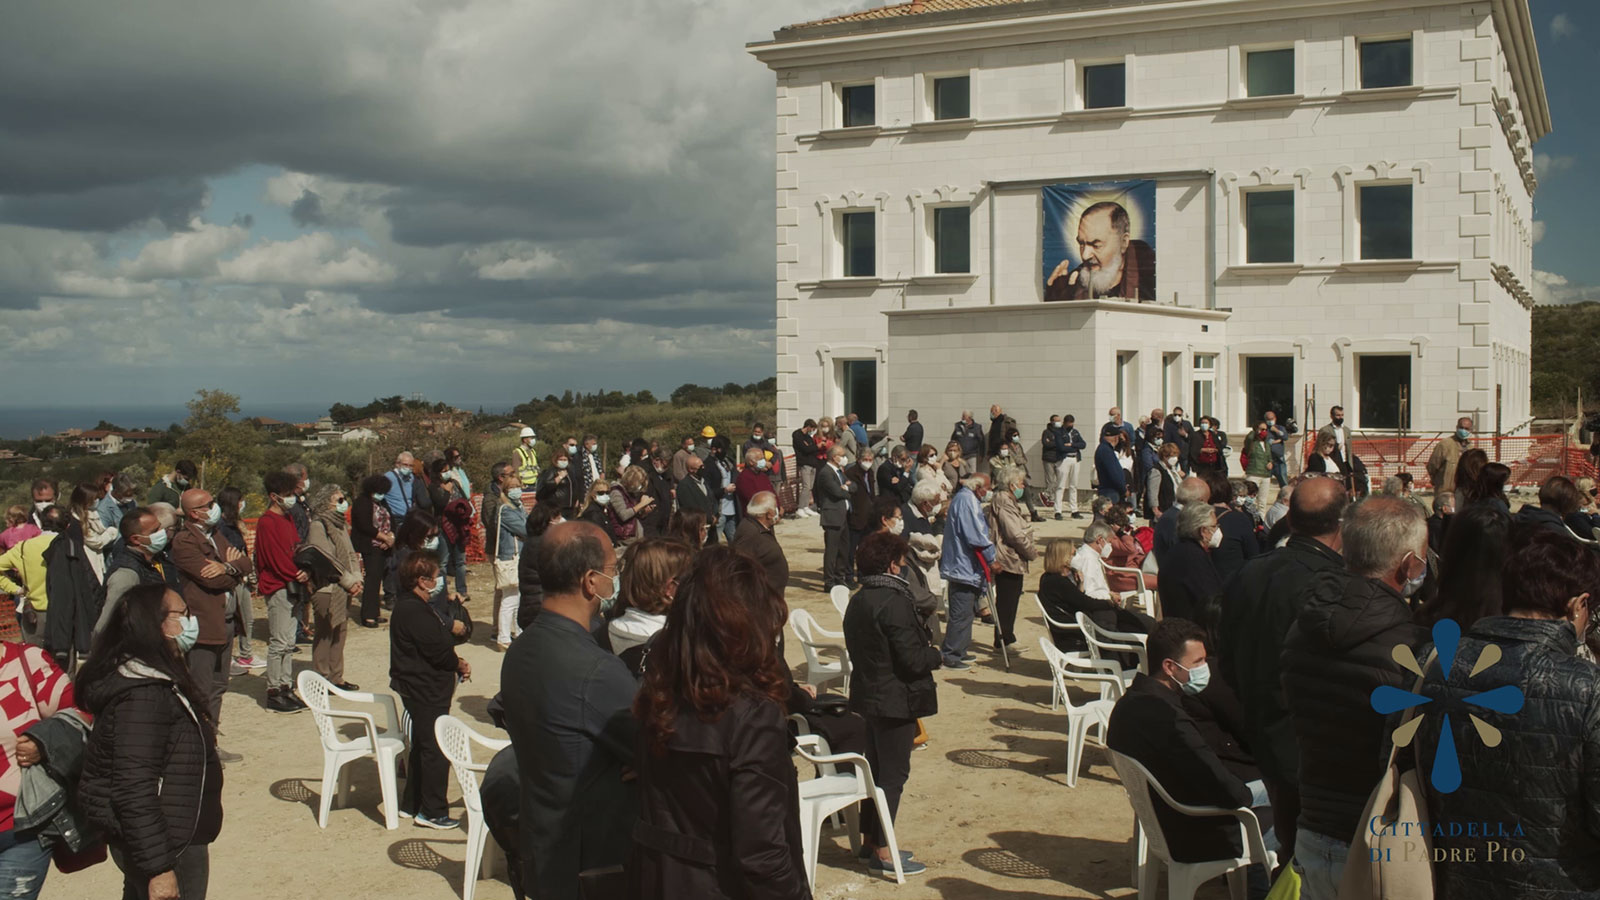
<instances>
[{"instance_id":1,"label":"dark jacket of the woman with long reddish-brown hair, seen from behind","mask_svg":"<svg viewBox=\"0 0 1600 900\"><path fill-rule=\"evenodd\" d=\"M629 897L810 900L784 709L741 695L715 721L680 709L667 749L643 735Z\"/></svg>"}]
</instances>

